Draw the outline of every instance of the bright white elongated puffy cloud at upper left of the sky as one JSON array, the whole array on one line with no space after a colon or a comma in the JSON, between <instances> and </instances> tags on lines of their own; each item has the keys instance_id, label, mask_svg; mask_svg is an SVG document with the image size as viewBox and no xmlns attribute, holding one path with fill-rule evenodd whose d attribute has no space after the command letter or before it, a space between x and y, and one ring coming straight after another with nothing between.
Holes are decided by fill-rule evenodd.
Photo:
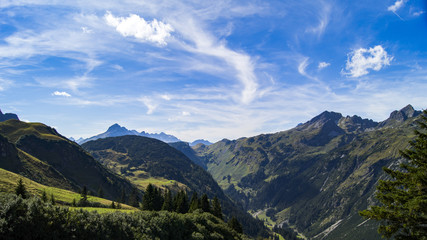
<instances>
[{"instance_id":1,"label":"bright white elongated puffy cloud at upper left of the sky","mask_svg":"<svg viewBox=\"0 0 427 240\"><path fill-rule=\"evenodd\" d=\"M124 37L135 37L142 41L166 45L166 39L171 36L173 28L170 24L153 19L151 22L144 18L130 14L129 17L115 17L111 12L104 15L108 25L115 27Z\"/></svg>"}]
</instances>

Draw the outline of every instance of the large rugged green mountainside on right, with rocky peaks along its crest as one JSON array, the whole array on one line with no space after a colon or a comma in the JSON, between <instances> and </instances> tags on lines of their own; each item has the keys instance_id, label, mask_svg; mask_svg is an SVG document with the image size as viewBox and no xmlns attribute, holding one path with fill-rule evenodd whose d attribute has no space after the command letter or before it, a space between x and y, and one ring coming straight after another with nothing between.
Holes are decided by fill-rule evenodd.
<instances>
[{"instance_id":1,"label":"large rugged green mountainside on right, with rocky peaks along its crest","mask_svg":"<svg viewBox=\"0 0 427 240\"><path fill-rule=\"evenodd\" d=\"M323 112L288 131L194 150L229 196L247 210L268 210L276 224L313 239L379 239L357 212L374 201L382 167L398 164L419 114L407 106L376 123Z\"/></svg>"}]
</instances>

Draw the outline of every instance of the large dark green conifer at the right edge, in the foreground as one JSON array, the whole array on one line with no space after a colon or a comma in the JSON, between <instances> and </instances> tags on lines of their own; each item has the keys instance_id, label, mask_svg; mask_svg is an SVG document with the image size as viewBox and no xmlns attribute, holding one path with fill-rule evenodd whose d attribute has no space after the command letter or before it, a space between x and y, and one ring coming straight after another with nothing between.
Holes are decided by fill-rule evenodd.
<instances>
[{"instance_id":1,"label":"large dark green conifer at the right edge, in the foreground","mask_svg":"<svg viewBox=\"0 0 427 240\"><path fill-rule=\"evenodd\" d=\"M407 159L402 170L383 168L391 180L380 180L376 198L380 206L361 211L366 218L381 221L378 232L395 239L426 239L427 236L427 111L411 148L401 151Z\"/></svg>"}]
</instances>

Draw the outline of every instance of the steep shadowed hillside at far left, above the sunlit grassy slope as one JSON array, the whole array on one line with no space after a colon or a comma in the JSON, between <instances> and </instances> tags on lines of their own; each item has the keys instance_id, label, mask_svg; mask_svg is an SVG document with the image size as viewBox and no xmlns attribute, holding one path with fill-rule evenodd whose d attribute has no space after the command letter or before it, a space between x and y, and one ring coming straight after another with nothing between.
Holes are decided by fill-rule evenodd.
<instances>
[{"instance_id":1,"label":"steep shadowed hillside at far left, above the sunlit grassy slope","mask_svg":"<svg viewBox=\"0 0 427 240\"><path fill-rule=\"evenodd\" d=\"M79 145L41 123L0 123L0 167L47 186L91 192L118 199L132 185L99 164Z\"/></svg>"}]
</instances>

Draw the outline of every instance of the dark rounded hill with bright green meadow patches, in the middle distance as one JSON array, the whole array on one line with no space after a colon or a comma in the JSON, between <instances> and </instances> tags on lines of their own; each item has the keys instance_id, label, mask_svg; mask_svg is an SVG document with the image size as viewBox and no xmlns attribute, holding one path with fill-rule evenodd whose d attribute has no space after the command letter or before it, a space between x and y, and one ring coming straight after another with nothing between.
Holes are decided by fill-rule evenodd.
<instances>
[{"instance_id":1,"label":"dark rounded hill with bright green meadow patches, in the middle distance","mask_svg":"<svg viewBox=\"0 0 427 240\"><path fill-rule=\"evenodd\" d=\"M162 141L141 137L122 136L98 139L82 145L100 163L129 179L140 189L152 183L161 188L185 188L189 194L206 193L209 198L221 200L223 212L236 215L245 232L256 236L263 230L262 223L236 207L202 167L194 164L183 153Z\"/></svg>"}]
</instances>

